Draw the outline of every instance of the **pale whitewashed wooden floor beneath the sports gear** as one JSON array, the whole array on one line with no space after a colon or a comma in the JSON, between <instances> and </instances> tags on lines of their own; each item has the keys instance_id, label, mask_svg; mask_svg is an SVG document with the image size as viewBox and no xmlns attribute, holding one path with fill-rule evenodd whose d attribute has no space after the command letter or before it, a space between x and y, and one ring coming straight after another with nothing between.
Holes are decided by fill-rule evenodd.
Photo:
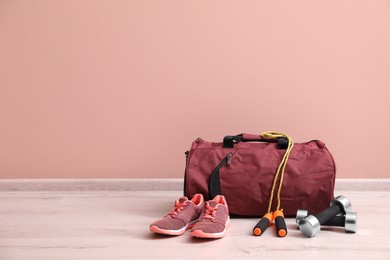
<instances>
[{"instance_id":1,"label":"pale whitewashed wooden floor beneath the sports gear","mask_svg":"<svg viewBox=\"0 0 390 260\"><path fill-rule=\"evenodd\" d=\"M180 191L0 192L0 259L390 259L390 192L346 191L358 233L341 229L306 238L251 234L257 219L233 219L225 238L152 234Z\"/></svg>"}]
</instances>

